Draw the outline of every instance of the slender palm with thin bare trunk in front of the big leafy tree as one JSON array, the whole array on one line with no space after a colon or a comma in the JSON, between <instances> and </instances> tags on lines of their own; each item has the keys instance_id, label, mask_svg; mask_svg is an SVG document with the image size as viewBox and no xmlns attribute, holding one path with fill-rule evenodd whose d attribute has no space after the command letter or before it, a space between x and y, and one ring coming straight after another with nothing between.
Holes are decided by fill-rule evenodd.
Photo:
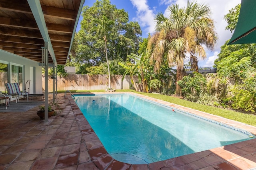
<instances>
[{"instance_id":1,"label":"slender palm with thin bare trunk in front of the big leafy tree","mask_svg":"<svg viewBox=\"0 0 256 170\"><path fill-rule=\"evenodd\" d=\"M110 77L110 69L108 63L108 48L107 48L107 36L110 32L114 33L114 22L112 20L108 20L107 18L103 17L102 20L94 19L93 22L95 26L93 27L93 31L96 31L96 35L99 38L103 38L105 42L105 52L106 52L106 62L108 65L108 87L111 89L111 77Z\"/></svg>"}]
</instances>

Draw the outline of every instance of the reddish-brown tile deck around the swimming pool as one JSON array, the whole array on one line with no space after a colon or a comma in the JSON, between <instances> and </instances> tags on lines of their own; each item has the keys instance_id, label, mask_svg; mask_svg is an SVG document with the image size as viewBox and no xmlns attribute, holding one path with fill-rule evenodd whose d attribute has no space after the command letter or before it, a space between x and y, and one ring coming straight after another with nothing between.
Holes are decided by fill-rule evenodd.
<instances>
[{"instance_id":1,"label":"reddish-brown tile deck around the swimming pool","mask_svg":"<svg viewBox=\"0 0 256 170\"><path fill-rule=\"evenodd\" d=\"M256 134L254 126L132 94ZM26 112L0 113L0 170L250 170L256 167L256 139L151 164L119 162L104 149L70 95L64 98L64 94L58 94L56 100L63 111L49 117L48 122L36 115L38 107Z\"/></svg>"}]
</instances>

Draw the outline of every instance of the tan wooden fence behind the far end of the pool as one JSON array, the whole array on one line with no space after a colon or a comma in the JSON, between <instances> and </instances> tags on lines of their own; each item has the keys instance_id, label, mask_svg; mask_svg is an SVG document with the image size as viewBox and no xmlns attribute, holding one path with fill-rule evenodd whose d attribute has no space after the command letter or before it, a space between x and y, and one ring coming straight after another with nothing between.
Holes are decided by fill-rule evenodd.
<instances>
[{"instance_id":1,"label":"tan wooden fence behind the far end of the pool","mask_svg":"<svg viewBox=\"0 0 256 170\"><path fill-rule=\"evenodd\" d=\"M134 76L138 81L138 76ZM44 76L42 77L44 90ZM122 75L111 76L111 88L113 89L130 89L132 84L130 76L125 76L122 81ZM108 75L88 74L68 74L66 77L57 76L57 90L106 90L108 88ZM53 90L53 79L48 79L48 90Z\"/></svg>"}]
</instances>

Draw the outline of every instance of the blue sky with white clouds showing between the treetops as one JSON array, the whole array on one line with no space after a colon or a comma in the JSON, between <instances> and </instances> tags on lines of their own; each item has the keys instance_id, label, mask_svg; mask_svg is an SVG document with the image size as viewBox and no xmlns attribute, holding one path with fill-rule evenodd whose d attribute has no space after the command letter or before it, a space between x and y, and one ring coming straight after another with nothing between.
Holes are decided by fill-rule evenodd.
<instances>
[{"instance_id":1,"label":"blue sky with white clouds showing between the treetops","mask_svg":"<svg viewBox=\"0 0 256 170\"><path fill-rule=\"evenodd\" d=\"M84 6L91 7L95 2L96 0L85 0ZM142 37L146 38L148 33L154 33L154 17L158 12L168 16L168 6L179 4L180 7L185 7L187 0L110 0L110 2L116 5L116 8L128 12L129 21L138 21L142 29ZM227 23L223 19L224 15L228 13L228 10L241 3L241 0L197 0L197 2L210 6L215 31L218 33L218 41L214 50L205 49L207 59L199 60L198 64L201 67L212 67L214 60L218 58L220 47L232 36L230 31L225 30ZM82 17L80 17L76 31L80 29L81 20Z\"/></svg>"}]
</instances>

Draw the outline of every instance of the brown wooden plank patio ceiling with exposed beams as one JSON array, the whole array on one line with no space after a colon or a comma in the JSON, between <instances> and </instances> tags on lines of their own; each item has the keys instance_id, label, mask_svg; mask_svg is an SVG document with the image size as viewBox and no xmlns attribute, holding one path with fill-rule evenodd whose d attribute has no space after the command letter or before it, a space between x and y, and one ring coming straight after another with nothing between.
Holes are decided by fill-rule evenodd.
<instances>
[{"instance_id":1,"label":"brown wooden plank patio ceiling with exposed beams","mask_svg":"<svg viewBox=\"0 0 256 170\"><path fill-rule=\"evenodd\" d=\"M66 64L80 3L40 0L58 65ZM42 63L42 47L44 40L27 0L0 0L0 49Z\"/></svg>"}]
</instances>

